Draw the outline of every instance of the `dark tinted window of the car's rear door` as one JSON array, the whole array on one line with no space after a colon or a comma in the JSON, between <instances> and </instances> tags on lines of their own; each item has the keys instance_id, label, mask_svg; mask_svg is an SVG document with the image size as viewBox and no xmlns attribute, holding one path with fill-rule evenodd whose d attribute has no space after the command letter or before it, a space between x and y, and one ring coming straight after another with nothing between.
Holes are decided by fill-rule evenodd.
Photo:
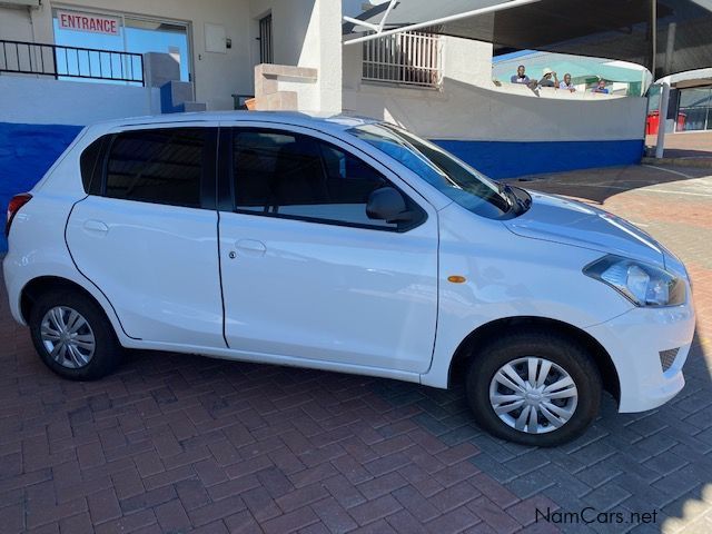
<instances>
[{"instance_id":1,"label":"dark tinted window of the car's rear door","mask_svg":"<svg viewBox=\"0 0 712 534\"><path fill-rule=\"evenodd\" d=\"M111 144L106 196L200 207L206 129L130 131Z\"/></svg>"}]
</instances>

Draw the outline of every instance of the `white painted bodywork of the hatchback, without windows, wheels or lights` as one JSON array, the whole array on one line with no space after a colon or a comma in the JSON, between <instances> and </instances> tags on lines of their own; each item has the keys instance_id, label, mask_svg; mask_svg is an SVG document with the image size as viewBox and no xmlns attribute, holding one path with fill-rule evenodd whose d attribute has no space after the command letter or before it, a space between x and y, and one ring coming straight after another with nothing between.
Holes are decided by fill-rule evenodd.
<instances>
[{"instance_id":1,"label":"white painted bodywork of the hatchback, without windows, wheels or lights","mask_svg":"<svg viewBox=\"0 0 712 534\"><path fill-rule=\"evenodd\" d=\"M16 320L26 320L26 285L56 276L97 299L126 347L447 387L453 355L472 332L502 318L542 317L584 330L606 349L622 412L653 408L683 387L694 332L686 271L622 219L540 194L518 218L485 219L349 135L358 119L293 113L188 113L168 123L268 123L329 139L407 191L427 212L426 222L387 234L230 212L219 215L218 238L216 212L161 206L152 215L134 206L140 202L121 201L118 209L109 199L87 197L78 168L91 141L166 121L140 118L85 129L32 189L3 263ZM639 308L583 275L605 254L673 270L684 280L685 303ZM449 283L453 275L466 283ZM659 352L673 347L681 347L680 356L663 373Z\"/></svg>"}]
</instances>

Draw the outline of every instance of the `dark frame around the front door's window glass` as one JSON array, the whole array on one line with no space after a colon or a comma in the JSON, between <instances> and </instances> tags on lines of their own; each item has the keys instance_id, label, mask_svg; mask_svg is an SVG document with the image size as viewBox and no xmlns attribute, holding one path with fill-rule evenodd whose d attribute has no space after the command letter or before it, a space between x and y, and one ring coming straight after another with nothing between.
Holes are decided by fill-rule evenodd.
<instances>
[{"instance_id":1,"label":"dark frame around the front door's window glass","mask_svg":"<svg viewBox=\"0 0 712 534\"><path fill-rule=\"evenodd\" d=\"M280 127L281 126L281 127ZM307 128L308 129L308 128ZM388 181L388 184L390 185L390 187L393 187L394 189L396 189L398 192L400 192L400 195L403 195L403 197L406 200L406 204L418 214L418 217L416 217L412 222L407 224L407 225L400 225L398 224L398 226L395 227L385 227L385 226L377 226L377 225L364 225L364 224L358 224L358 222L347 222L344 220L338 220L338 219L325 219L325 218L319 218L319 217L305 217L305 216L299 216L299 215L286 215L286 214L274 214L274 212L264 212L264 211L253 211L249 209L238 209L237 208L237 197L236 197L236 190L235 190L235 184L236 184L236 178L235 178L235 166L234 166L234 134L237 130L259 130L259 131L265 131L265 132L273 132L273 134L277 134L277 135L288 135L288 136L303 136L303 137L308 137L310 139L314 139L317 142L323 142L326 145L330 145L333 147L335 147L337 150L343 151L344 154L358 159L359 161L362 161L364 165L366 165L367 167L372 168L375 172L378 172L379 175L383 176L383 178L385 180ZM220 126L220 141L219 141L219 146L220 146L220 164L218 165L218 209L220 211L227 211L227 212L233 212L233 214L238 214L238 215L247 215L247 216L253 216L253 217L267 217L267 218L273 218L273 219L286 219L286 220L297 220L297 221L303 221L303 222L310 222L310 224L319 224L319 225L329 225L329 226L340 226L340 227L346 227L346 228L359 228L359 229L366 229L366 230L378 230L378 231L387 231L387 233L392 233L392 234L404 234L407 233L409 230L413 230L419 226L422 226L423 224L425 224L425 221L428 218L428 214L427 211L419 205L419 202L416 202L413 199L412 195L406 194L403 190L403 187L400 187L399 185L395 184L394 180L392 178L389 178L388 176L386 176L383 171L376 169L373 165L370 165L368 161L366 161L363 157L357 156L356 154L354 154L354 150L352 149L347 149L343 146L339 146L336 141L340 141L340 139L338 138L334 138L328 136L327 134L320 131L320 130L314 130L315 132L322 135L323 137L318 137L315 136L314 134L305 134L303 131L299 131L297 129L290 129L290 127L288 125L256 125L256 123L251 123L251 125L225 125L225 126ZM350 146L349 146L350 147ZM320 156L320 160L322 160L322 165L324 165L324 158L323 156Z\"/></svg>"}]
</instances>

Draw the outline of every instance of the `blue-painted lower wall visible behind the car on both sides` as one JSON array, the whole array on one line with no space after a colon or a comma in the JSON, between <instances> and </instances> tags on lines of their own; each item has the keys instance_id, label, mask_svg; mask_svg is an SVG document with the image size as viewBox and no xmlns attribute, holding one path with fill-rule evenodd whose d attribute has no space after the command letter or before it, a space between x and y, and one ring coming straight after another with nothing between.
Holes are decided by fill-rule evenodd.
<instances>
[{"instance_id":1,"label":"blue-painted lower wall visible behind the car on both sides","mask_svg":"<svg viewBox=\"0 0 712 534\"><path fill-rule=\"evenodd\" d=\"M0 212L12 196L32 188L81 130L80 126L0 122ZM438 140L492 178L513 178L641 161L643 140L632 141L458 141ZM0 233L0 251L7 250Z\"/></svg>"}]
</instances>

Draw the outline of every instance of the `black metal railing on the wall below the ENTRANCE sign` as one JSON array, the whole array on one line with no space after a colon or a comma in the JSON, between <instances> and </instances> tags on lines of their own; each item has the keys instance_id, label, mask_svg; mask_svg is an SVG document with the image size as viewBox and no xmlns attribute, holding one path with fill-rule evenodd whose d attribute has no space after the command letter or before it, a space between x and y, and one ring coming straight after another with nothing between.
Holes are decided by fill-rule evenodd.
<instances>
[{"instance_id":1,"label":"black metal railing on the wall below the ENTRANCE sign","mask_svg":"<svg viewBox=\"0 0 712 534\"><path fill-rule=\"evenodd\" d=\"M145 85L140 53L3 39L0 72Z\"/></svg>"}]
</instances>

